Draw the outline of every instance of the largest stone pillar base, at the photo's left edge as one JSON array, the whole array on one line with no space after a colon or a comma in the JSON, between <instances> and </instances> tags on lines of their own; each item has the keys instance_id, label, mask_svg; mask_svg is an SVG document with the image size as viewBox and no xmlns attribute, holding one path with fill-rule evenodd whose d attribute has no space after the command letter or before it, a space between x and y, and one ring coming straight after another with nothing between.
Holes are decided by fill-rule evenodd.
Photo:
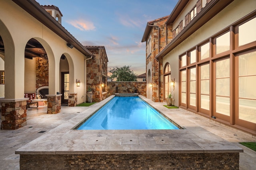
<instances>
[{"instance_id":1,"label":"largest stone pillar base, at the photo's left edge","mask_svg":"<svg viewBox=\"0 0 256 170\"><path fill-rule=\"evenodd\" d=\"M26 126L28 98L20 100L1 99L1 129L15 130Z\"/></svg>"}]
</instances>

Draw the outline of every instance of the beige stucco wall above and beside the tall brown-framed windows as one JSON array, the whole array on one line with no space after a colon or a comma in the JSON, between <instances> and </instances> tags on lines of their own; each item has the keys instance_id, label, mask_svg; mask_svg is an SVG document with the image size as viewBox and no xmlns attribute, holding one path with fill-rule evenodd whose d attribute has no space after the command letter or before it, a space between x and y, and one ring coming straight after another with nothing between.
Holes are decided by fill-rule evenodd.
<instances>
[{"instance_id":1,"label":"beige stucco wall above and beside the tall brown-framed windows","mask_svg":"<svg viewBox=\"0 0 256 170\"><path fill-rule=\"evenodd\" d=\"M179 101L179 55L205 41L212 35L228 27L240 18L255 10L254 0L235 0L210 21L195 31L190 37L180 43L176 48L163 57L163 65L167 62L171 66L172 79L175 78L174 105L178 106ZM246 9L246 10L241 10Z\"/></svg>"}]
</instances>

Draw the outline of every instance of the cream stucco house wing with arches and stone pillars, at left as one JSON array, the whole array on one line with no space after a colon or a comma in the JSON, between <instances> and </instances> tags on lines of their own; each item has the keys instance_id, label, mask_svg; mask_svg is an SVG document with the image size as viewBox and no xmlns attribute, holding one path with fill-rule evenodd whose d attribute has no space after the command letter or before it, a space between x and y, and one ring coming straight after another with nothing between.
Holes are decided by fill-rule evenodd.
<instances>
[{"instance_id":1,"label":"cream stucco house wing with arches and stone pillars, at left","mask_svg":"<svg viewBox=\"0 0 256 170\"><path fill-rule=\"evenodd\" d=\"M1 0L2 129L26 125L24 94L37 96L40 88L47 89L46 99L36 100L47 101L47 113L86 101L86 63L95 56L61 25L61 17L56 6L35 0Z\"/></svg>"}]
</instances>

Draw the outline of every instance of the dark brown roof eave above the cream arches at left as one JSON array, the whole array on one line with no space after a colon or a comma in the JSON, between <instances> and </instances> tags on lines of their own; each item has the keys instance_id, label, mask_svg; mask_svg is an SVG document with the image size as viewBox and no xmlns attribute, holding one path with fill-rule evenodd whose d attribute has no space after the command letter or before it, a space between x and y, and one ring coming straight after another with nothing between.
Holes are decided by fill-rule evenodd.
<instances>
[{"instance_id":1,"label":"dark brown roof eave above the cream arches at left","mask_svg":"<svg viewBox=\"0 0 256 170\"><path fill-rule=\"evenodd\" d=\"M80 51L86 58L94 56L91 54L75 37L73 37L58 21L56 21L46 10L35 0L12 0L23 10L28 12L31 16L36 18L54 33L59 35L67 43L71 43L78 51Z\"/></svg>"}]
</instances>

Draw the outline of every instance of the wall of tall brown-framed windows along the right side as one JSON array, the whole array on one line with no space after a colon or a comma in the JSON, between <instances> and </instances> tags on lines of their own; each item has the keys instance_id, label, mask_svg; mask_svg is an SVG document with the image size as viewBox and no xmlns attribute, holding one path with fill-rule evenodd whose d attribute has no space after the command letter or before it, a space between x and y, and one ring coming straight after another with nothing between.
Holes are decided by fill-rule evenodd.
<instances>
[{"instance_id":1,"label":"wall of tall brown-framed windows along the right side","mask_svg":"<svg viewBox=\"0 0 256 170\"><path fill-rule=\"evenodd\" d=\"M179 106L256 132L254 25L256 12L181 51Z\"/></svg>"}]
</instances>

